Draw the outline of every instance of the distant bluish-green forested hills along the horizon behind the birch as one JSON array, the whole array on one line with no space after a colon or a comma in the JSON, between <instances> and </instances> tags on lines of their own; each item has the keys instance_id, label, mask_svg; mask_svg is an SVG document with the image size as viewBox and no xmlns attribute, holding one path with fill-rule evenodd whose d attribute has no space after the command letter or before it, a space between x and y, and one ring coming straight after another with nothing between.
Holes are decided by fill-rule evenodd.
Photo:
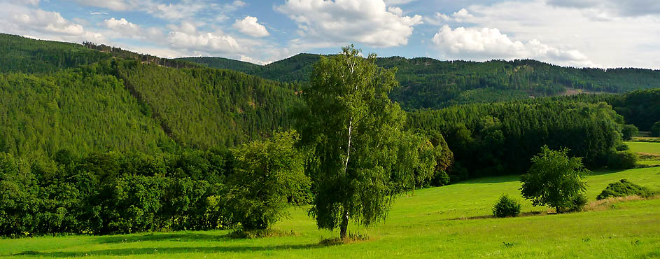
<instances>
[{"instance_id":1,"label":"distant bluish-green forested hills along the horizon behind the birch","mask_svg":"<svg viewBox=\"0 0 660 259\"><path fill-rule=\"evenodd\" d=\"M237 61L213 57L184 60L233 68L272 80L304 82L309 80L312 66L320 57L300 54L265 66L237 66ZM575 92L630 92L660 86L657 70L575 69L529 59L465 62L381 57L377 64L398 68L396 78L402 87L394 90L391 97L409 110Z\"/></svg>"}]
</instances>

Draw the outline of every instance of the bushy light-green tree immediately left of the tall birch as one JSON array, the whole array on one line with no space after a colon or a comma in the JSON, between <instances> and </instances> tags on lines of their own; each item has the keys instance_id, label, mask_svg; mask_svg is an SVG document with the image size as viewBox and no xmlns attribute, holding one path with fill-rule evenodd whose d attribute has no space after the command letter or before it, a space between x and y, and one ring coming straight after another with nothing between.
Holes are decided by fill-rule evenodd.
<instances>
[{"instance_id":1,"label":"bushy light-green tree immediately left of the tall birch","mask_svg":"<svg viewBox=\"0 0 660 259\"><path fill-rule=\"evenodd\" d=\"M294 144L295 132L252 141L233 153L237 172L227 181L227 207L244 230L266 229L285 217L290 204L307 203L309 177Z\"/></svg>"}]
</instances>

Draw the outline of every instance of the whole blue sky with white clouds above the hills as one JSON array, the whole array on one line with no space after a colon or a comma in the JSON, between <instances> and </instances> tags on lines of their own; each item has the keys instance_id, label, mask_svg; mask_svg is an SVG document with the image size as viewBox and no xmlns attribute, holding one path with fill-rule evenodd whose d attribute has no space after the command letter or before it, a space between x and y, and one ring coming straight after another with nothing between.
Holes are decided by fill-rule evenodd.
<instances>
[{"instance_id":1,"label":"whole blue sky with white clouds above the hills","mask_svg":"<svg viewBox=\"0 0 660 259\"><path fill-rule=\"evenodd\" d=\"M660 69L659 0L0 0L0 32L265 64L381 57Z\"/></svg>"}]
</instances>

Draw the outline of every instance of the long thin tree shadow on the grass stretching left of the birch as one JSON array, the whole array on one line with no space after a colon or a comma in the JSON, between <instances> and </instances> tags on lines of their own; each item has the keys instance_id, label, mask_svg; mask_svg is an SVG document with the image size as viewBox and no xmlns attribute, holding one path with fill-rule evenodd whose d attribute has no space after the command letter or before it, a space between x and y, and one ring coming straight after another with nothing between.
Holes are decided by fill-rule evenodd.
<instances>
[{"instance_id":1,"label":"long thin tree shadow on the grass stretching left of the birch","mask_svg":"<svg viewBox=\"0 0 660 259\"><path fill-rule=\"evenodd\" d=\"M175 253L243 253L253 251L286 251L297 249L312 249L321 248L322 244L297 244L297 245L279 245L279 246L214 246L214 247L150 247L150 248L117 248L117 249L104 249L96 251L84 252L39 252L39 251L23 251L15 253L10 256L17 255L34 255L39 257L82 257L93 255L111 255L111 256L125 256L125 255L161 255L167 257L168 254Z\"/></svg>"}]
</instances>

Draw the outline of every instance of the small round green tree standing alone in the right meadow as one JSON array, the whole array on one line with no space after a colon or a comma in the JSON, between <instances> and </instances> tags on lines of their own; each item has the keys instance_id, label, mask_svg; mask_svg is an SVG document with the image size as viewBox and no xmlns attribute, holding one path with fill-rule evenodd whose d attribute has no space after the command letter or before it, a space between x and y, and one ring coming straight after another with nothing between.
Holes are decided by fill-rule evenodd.
<instances>
[{"instance_id":1,"label":"small round green tree standing alone in the right meadow","mask_svg":"<svg viewBox=\"0 0 660 259\"><path fill-rule=\"evenodd\" d=\"M582 176L589 172L582 165L582 158L569 158L568 148L559 151L541 148L532 158L532 166L521 176L522 196L534 206L547 205L557 213L573 207L573 200L586 190Z\"/></svg>"}]
</instances>

